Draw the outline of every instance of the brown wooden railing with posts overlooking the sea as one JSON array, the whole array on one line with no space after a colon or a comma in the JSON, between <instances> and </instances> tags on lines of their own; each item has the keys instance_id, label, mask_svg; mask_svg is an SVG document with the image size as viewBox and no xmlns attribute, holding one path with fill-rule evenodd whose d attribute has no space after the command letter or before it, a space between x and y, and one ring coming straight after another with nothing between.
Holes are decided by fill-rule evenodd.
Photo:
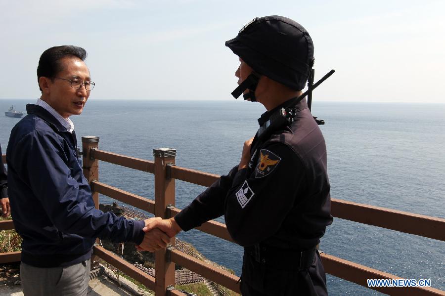
<instances>
[{"instance_id":1,"label":"brown wooden railing with posts overlooking the sea","mask_svg":"<svg viewBox=\"0 0 445 296\"><path fill-rule=\"evenodd\" d=\"M132 205L162 218L175 216L180 210L175 208L175 179L210 186L219 175L175 166L176 150L154 149L154 161L137 159L125 155L98 150L98 137L82 137L84 174L90 182L93 199L98 207L98 194ZM3 156L4 157L4 156ZM99 182L98 161L154 173L155 196L147 199L133 193ZM445 241L445 219L426 215L395 211L386 208L358 204L339 199L331 201L332 215L338 218L356 221L368 225L397 230L427 238ZM13 229L12 221L1 221L0 230ZM225 224L208 221L197 229L233 242ZM223 269L205 263L193 256L179 252L172 238L171 245L155 253L156 278L144 273L119 256L99 247L94 247L94 254L104 259L136 281L155 291L156 295L183 295L174 288L175 263L232 291L240 293L239 278ZM390 273L373 269L352 261L329 254L320 254L327 273L367 287L366 279L401 279ZM0 263L20 260L20 252L0 254ZM369 287L367 287L369 288ZM370 289L388 295L445 295L445 292L431 287L372 287Z\"/></svg>"}]
</instances>

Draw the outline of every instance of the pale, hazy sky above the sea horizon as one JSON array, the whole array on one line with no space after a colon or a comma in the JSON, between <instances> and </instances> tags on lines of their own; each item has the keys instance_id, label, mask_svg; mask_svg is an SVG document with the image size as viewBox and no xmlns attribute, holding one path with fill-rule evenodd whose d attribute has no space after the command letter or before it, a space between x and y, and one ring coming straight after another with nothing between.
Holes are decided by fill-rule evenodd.
<instances>
[{"instance_id":1,"label":"pale, hazy sky above the sea horizon","mask_svg":"<svg viewBox=\"0 0 445 296\"><path fill-rule=\"evenodd\" d=\"M0 0L0 99L38 98L51 46L88 51L90 98L230 100L224 46L255 17L282 15L314 42L313 99L443 103L445 1Z\"/></svg>"}]
</instances>

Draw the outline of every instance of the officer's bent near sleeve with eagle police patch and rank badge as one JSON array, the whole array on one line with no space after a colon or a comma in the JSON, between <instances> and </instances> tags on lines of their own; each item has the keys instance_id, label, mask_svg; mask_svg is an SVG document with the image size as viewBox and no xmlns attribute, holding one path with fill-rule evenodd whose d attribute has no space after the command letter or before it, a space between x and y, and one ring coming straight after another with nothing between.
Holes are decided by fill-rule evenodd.
<instances>
[{"instance_id":1,"label":"officer's bent near sleeve with eagle police patch and rank badge","mask_svg":"<svg viewBox=\"0 0 445 296\"><path fill-rule=\"evenodd\" d=\"M241 169L227 193L225 222L241 246L260 243L275 234L305 184L303 165L285 144L271 143L259 151L258 164Z\"/></svg>"}]
</instances>

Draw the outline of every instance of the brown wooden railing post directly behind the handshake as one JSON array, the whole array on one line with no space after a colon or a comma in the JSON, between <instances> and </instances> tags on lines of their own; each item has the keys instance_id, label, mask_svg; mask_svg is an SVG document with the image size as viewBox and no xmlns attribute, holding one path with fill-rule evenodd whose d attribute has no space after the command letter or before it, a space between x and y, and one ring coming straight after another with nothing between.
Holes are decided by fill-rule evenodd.
<instances>
[{"instance_id":1,"label":"brown wooden railing post directly behind the handshake","mask_svg":"<svg viewBox=\"0 0 445 296\"><path fill-rule=\"evenodd\" d=\"M167 176L168 166L175 165L176 149L153 149L155 167L155 216L167 218L167 206L175 205L175 179ZM175 244L172 238L171 244ZM156 296L164 296L170 285L175 285L175 263L166 256L166 249L155 253Z\"/></svg>"}]
</instances>

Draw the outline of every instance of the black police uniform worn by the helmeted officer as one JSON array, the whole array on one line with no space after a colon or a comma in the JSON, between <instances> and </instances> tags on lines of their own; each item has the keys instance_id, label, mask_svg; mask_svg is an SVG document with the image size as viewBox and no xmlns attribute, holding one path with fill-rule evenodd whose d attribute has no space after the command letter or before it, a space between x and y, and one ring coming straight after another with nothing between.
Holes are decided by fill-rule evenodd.
<instances>
[{"instance_id":1,"label":"black police uniform worn by the helmeted officer","mask_svg":"<svg viewBox=\"0 0 445 296\"><path fill-rule=\"evenodd\" d=\"M175 217L187 231L224 214L245 249L243 295L327 295L315 250L332 223L326 145L306 100L296 107L292 124L255 137L248 168L234 167Z\"/></svg>"}]
</instances>

